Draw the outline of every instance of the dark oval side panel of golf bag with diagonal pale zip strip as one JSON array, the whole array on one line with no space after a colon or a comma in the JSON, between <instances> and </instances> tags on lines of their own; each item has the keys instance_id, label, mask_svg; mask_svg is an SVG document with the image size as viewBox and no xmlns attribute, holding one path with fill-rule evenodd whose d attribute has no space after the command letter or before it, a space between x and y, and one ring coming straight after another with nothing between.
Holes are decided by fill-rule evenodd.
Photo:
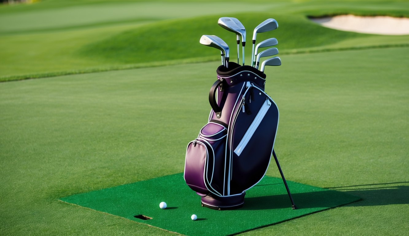
<instances>
[{"instance_id":1,"label":"dark oval side panel of golf bag with diagonal pale zip strip","mask_svg":"<svg viewBox=\"0 0 409 236\"><path fill-rule=\"evenodd\" d=\"M246 191L264 177L279 120L274 101L256 86L249 85L241 101L228 134L231 195Z\"/></svg>"}]
</instances>

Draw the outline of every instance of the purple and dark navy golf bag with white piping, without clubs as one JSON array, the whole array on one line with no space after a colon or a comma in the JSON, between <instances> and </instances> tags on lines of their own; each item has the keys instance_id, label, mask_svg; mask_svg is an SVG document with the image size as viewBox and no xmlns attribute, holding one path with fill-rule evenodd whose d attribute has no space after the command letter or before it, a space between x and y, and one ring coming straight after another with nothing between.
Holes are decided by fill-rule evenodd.
<instances>
[{"instance_id":1,"label":"purple and dark navy golf bag with white piping, without clubs","mask_svg":"<svg viewBox=\"0 0 409 236\"><path fill-rule=\"evenodd\" d=\"M266 75L260 70L229 62L216 72L209 120L187 145L184 179L202 206L220 210L242 206L245 191L264 177L279 111L264 92Z\"/></svg>"}]
</instances>

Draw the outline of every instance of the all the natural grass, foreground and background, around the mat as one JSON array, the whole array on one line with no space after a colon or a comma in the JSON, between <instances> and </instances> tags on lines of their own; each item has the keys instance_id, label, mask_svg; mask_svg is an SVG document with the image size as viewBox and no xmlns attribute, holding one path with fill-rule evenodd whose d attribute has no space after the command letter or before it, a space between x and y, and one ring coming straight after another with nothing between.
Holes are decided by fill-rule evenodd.
<instances>
[{"instance_id":1,"label":"all the natural grass, foreground and background, around the mat","mask_svg":"<svg viewBox=\"0 0 409 236\"><path fill-rule=\"evenodd\" d=\"M274 149L286 179L363 199L243 235L406 235L409 35L342 32L307 18L334 14L408 17L409 2L0 6L1 234L174 235L58 199L183 172L220 65L199 39L220 36L235 61L235 36L217 25L230 16L247 29L246 64L253 27L279 23L257 41L279 42L282 66L265 69L265 90L280 111ZM280 177L271 166L267 175Z\"/></svg>"}]
</instances>

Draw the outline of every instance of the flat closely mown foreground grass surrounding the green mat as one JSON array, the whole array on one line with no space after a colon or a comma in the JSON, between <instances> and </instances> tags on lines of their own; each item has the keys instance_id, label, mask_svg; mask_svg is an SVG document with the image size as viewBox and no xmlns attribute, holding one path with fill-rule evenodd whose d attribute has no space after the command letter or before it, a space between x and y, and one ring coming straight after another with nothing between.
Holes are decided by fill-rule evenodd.
<instances>
[{"instance_id":1,"label":"flat closely mown foreground grass surrounding the green mat","mask_svg":"<svg viewBox=\"0 0 409 236\"><path fill-rule=\"evenodd\" d=\"M281 67L266 68L285 177L363 200L245 235L407 233L408 54L283 55ZM182 172L218 65L1 83L2 234L173 235L58 198ZM267 175L279 177L274 165Z\"/></svg>"}]
</instances>

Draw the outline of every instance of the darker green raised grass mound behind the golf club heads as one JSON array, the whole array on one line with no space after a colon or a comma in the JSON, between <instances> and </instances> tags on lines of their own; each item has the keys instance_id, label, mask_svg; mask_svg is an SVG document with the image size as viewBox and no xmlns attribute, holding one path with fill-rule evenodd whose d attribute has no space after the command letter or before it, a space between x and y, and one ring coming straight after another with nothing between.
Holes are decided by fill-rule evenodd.
<instances>
[{"instance_id":1,"label":"darker green raised grass mound behind the golf club heads","mask_svg":"<svg viewBox=\"0 0 409 236\"><path fill-rule=\"evenodd\" d=\"M246 13L234 16L240 19L247 28L246 54L248 57L252 49L252 30L267 18L276 19L279 25L285 25L285 28L281 30L279 27L277 30L258 34L257 42L275 37L279 41L279 50L284 51L330 45L346 39L365 37L362 34L321 27L302 15ZM220 17L222 15L152 23L85 45L80 50L80 54L85 57L103 58L122 63L144 63L195 57L218 58L216 49L199 45L200 36L214 34L230 46L230 57L234 59L236 37L217 25Z\"/></svg>"}]
</instances>

